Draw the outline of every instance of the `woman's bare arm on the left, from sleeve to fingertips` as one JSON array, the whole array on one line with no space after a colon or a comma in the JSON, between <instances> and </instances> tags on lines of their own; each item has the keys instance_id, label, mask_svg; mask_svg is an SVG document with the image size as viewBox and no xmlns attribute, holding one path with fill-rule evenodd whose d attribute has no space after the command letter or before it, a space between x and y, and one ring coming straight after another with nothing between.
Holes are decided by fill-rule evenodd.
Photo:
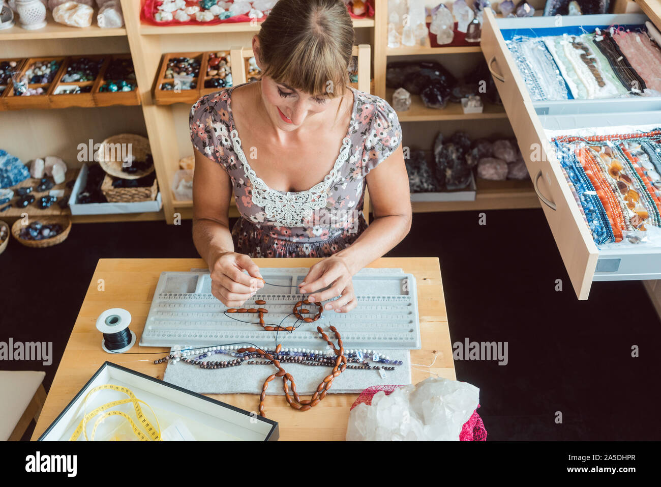
<instances>
[{"instance_id":1,"label":"woman's bare arm on the left, from sleeve to fingertips","mask_svg":"<svg viewBox=\"0 0 661 487\"><path fill-rule=\"evenodd\" d=\"M241 306L264 287L259 267L248 255L235 253L229 231L232 181L218 163L195 151L193 242L209 266L212 294L225 306ZM243 270L249 272L249 276Z\"/></svg>"}]
</instances>

